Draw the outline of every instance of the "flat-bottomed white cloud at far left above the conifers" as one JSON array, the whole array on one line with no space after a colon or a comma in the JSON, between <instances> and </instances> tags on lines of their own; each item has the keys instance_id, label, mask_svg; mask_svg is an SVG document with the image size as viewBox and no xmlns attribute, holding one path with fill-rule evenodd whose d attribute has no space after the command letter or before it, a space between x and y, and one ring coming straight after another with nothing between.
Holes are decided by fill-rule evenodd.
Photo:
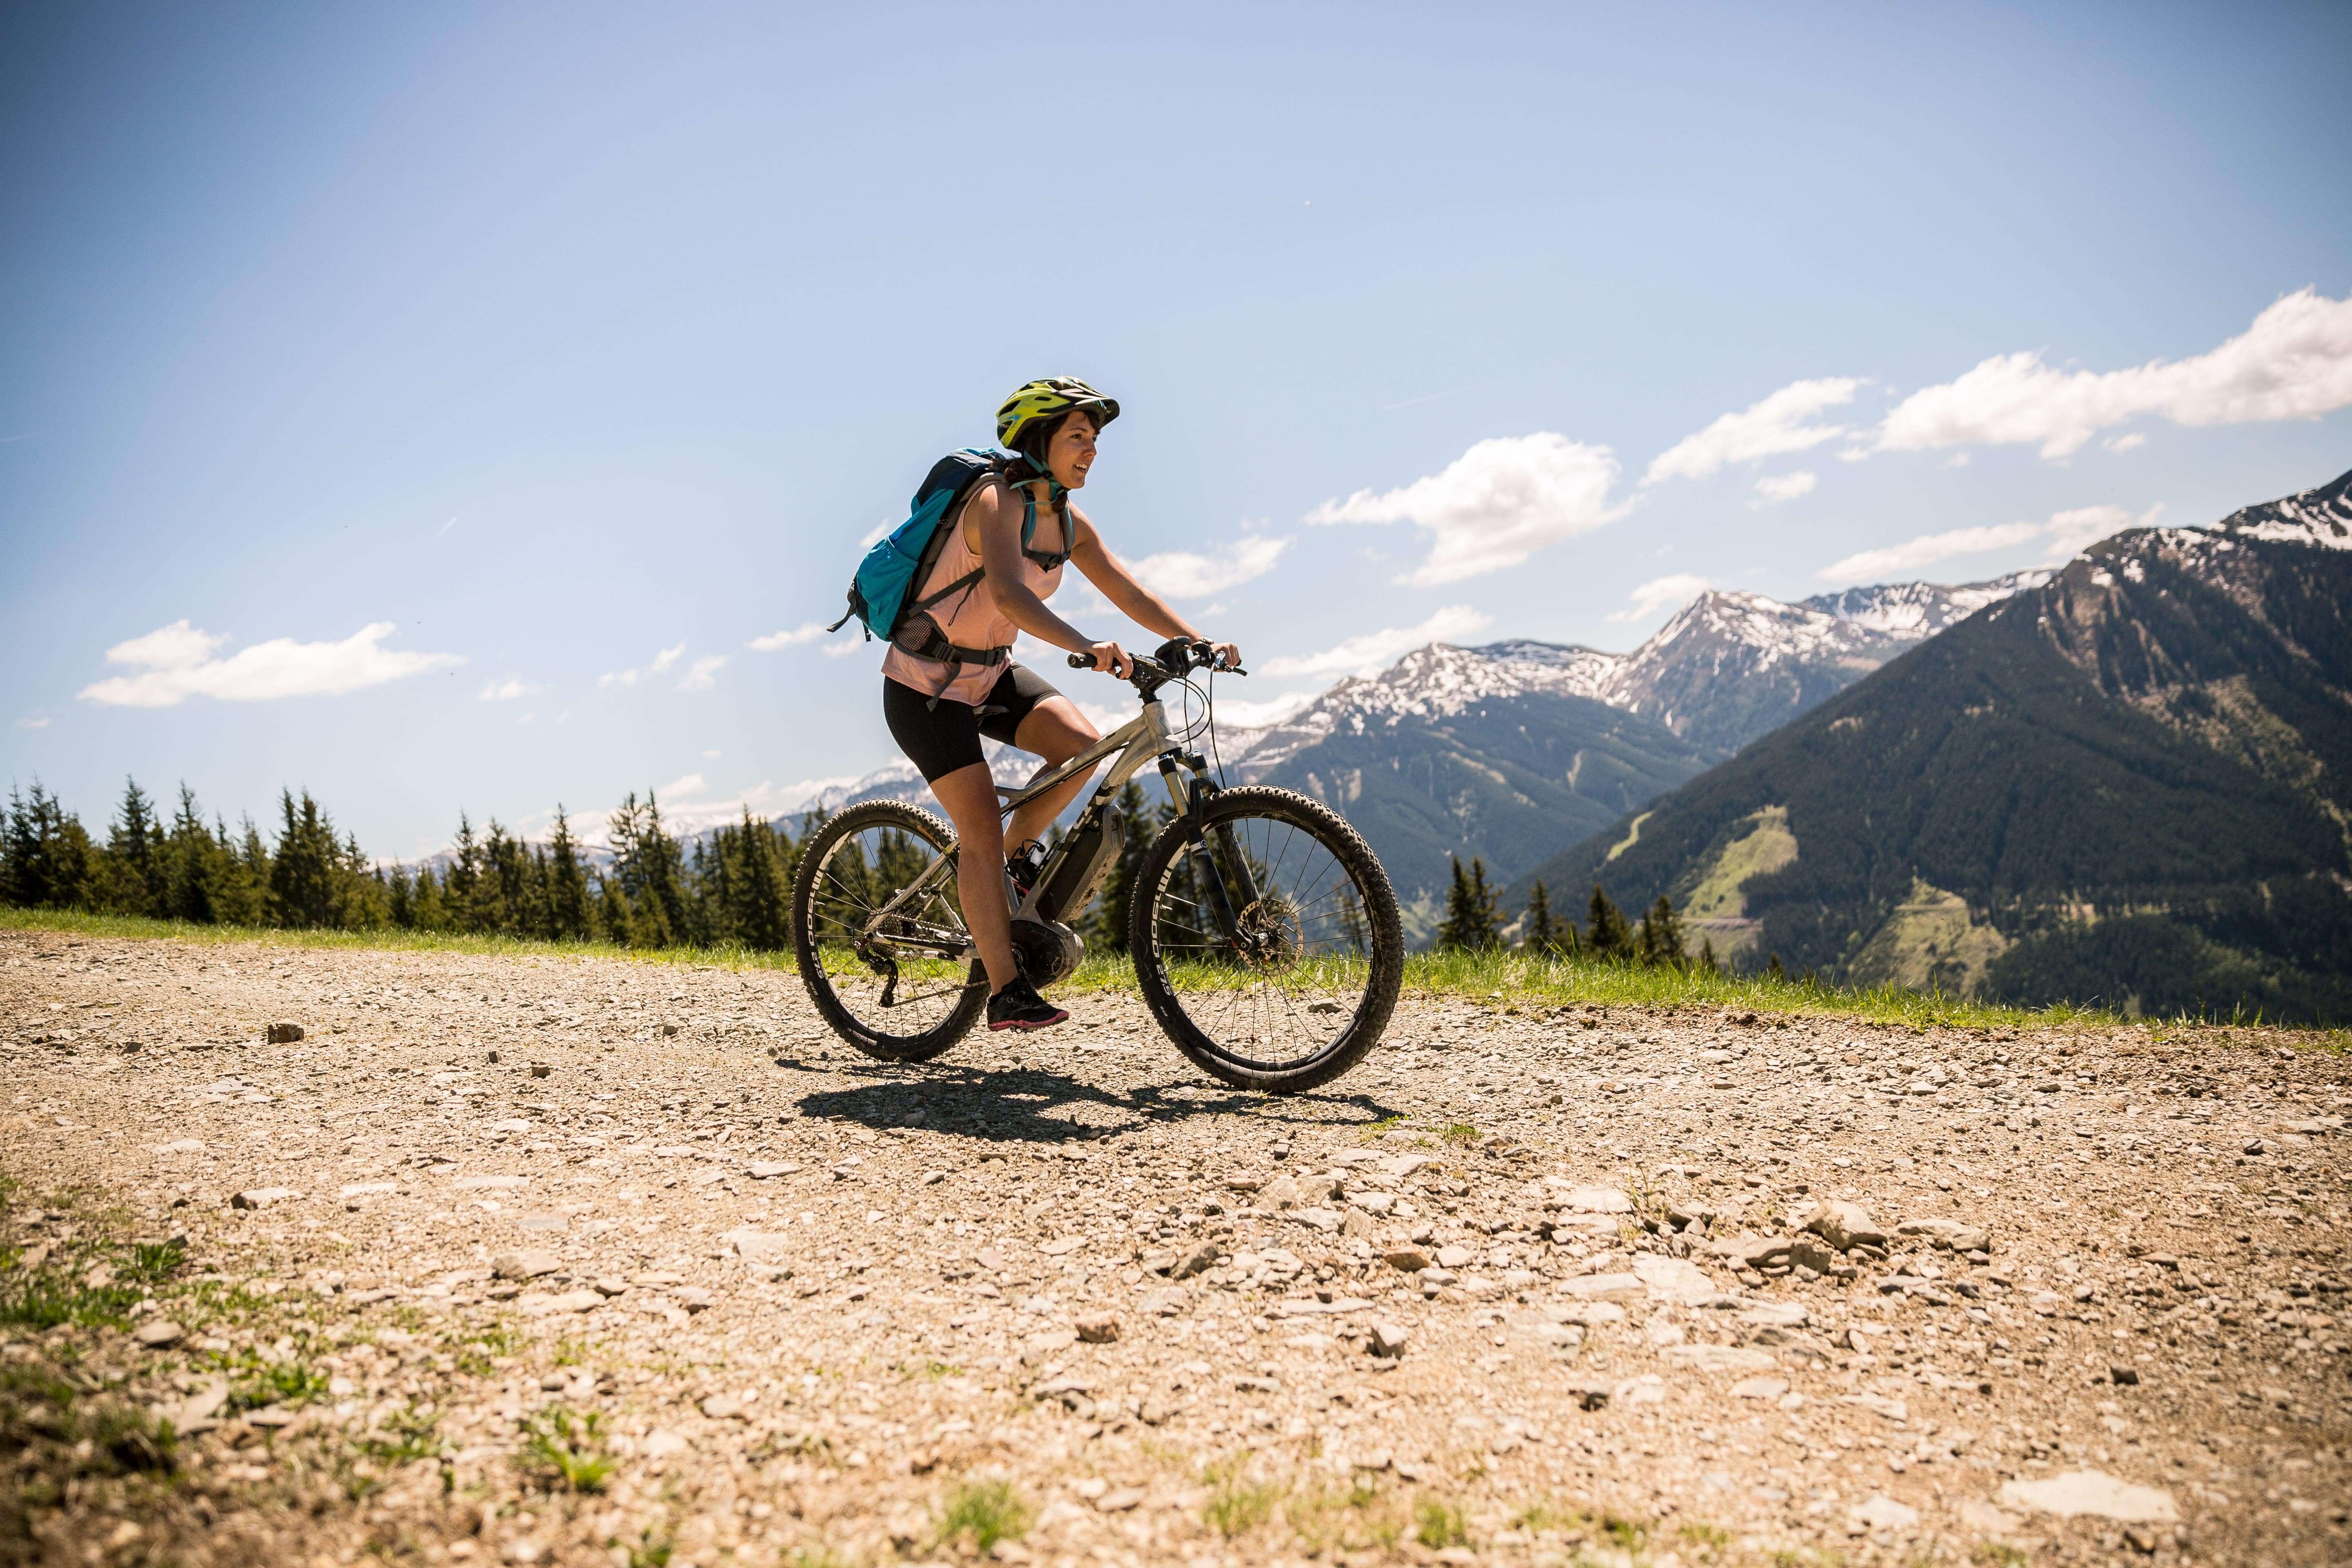
<instances>
[{"instance_id":1,"label":"flat-bottomed white cloud at far left above the conifers","mask_svg":"<svg viewBox=\"0 0 2352 1568\"><path fill-rule=\"evenodd\" d=\"M132 665L139 675L113 675L82 686L78 696L111 708L172 708L191 696L263 703L280 696L341 696L466 663L459 654L386 649L383 639L393 630L390 621L374 621L343 642L273 637L216 658L226 637L174 621L106 649L108 663Z\"/></svg>"}]
</instances>

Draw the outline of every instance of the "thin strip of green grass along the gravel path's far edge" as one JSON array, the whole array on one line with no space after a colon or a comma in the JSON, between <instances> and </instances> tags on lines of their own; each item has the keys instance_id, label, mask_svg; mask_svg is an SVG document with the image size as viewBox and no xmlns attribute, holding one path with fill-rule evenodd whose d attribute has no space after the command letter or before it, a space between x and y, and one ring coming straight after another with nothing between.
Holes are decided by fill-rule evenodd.
<instances>
[{"instance_id":1,"label":"thin strip of green grass along the gravel path's far edge","mask_svg":"<svg viewBox=\"0 0 2352 1568\"><path fill-rule=\"evenodd\" d=\"M602 959L626 964L677 964L699 969L793 969L788 952L750 947L612 947L607 943L541 943L506 936L456 936L445 931L278 931L254 926L195 926L129 914L82 914L71 910L0 907L0 929L61 931L122 940L183 943L259 943L268 947L386 950L386 952L470 952L492 957ZM1244 971L1185 966L1185 985L1235 985ZM1192 973L1200 971L1200 973ZM1054 990L1061 994L1134 990L1134 964L1117 954L1089 954L1077 973ZM1524 952L1416 952L1404 961L1406 994L1472 997L1491 1009L1522 1011L1559 1006L1729 1006L1757 1013L1835 1013L1872 1023L1910 1027L2053 1027L2122 1025L2119 1013L2056 1004L2046 1009L1997 1006L1943 992L1915 992L1896 985L1844 987L1818 980L1773 980L1769 976L1726 976L1712 971L1642 969L1581 959L1543 959ZM2161 1025L2166 1020L2138 1020ZM2183 1020L2194 1023L2194 1020ZM2319 1044L2352 1048L2352 1030L2300 1030Z\"/></svg>"}]
</instances>

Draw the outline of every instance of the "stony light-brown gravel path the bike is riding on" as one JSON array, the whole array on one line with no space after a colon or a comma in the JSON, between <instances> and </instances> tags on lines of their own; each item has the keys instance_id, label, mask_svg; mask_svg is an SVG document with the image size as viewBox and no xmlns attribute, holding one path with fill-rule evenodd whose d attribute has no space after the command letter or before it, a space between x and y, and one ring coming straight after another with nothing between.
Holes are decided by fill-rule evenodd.
<instances>
[{"instance_id":1,"label":"stony light-brown gravel path the bike is riding on","mask_svg":"<svg viewBox=\"0 0 2352 1568\"><path fill-rule=\"evenodd\" d=\"M1073 1011L0 933L0 1561L2352 1559L2336 1053Z\"/></svg>"}]
</instances>

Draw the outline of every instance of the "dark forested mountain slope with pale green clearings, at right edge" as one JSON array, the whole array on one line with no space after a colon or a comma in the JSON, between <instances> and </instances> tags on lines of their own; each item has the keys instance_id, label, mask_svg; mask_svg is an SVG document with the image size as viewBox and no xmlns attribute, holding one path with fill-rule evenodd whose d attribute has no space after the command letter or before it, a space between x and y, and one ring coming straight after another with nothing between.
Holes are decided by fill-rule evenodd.
<instances>
[{"instance_id":1,"label":"dark forested mountain slope with pale green clearings, at right edge","mask_svg":"<svg viewBox=\"0 0 2352 1568\"><path fill-rule=\"evenodd\" d=\"M1851 983L2352 1016L2352 475L2100 541L1536 877Z\"/></svg>"}]
</instances>

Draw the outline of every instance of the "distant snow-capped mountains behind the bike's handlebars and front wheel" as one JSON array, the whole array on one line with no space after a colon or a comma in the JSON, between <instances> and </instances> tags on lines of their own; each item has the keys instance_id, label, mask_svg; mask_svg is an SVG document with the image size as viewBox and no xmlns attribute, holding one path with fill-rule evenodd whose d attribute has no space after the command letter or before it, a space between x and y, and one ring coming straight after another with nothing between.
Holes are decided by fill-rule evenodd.
<instances>
[{"instance_id":1,"label":"distant snow-capped mountains behind the bike's handlebars and front wheel","mask_svg":"<svg viewBox=\"0 0 2352 1568\"><path fill-rule=\"evenodd\" d=\"M1437 922L1451 858L1508 879L1682 785L1985 604L2049 581L1886 583L1783 604L1710 590L1630 654L1534 639L1428 644L1301 712L1218 731L1228 776L1324 799L1357 825L1406 905ZM990 748L1000 783L1035 762ZM894 762L821 804L922 799Z\"/></svg>"}]
</instances>

